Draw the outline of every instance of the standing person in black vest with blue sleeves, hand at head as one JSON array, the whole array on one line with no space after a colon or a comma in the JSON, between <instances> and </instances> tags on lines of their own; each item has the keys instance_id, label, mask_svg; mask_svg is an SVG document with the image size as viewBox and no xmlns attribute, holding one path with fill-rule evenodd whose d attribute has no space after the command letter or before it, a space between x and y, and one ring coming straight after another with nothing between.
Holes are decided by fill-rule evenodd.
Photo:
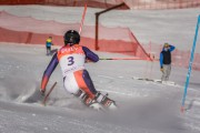
<instances>
[{"instance_id":1,"label":"standing person in black vest with blue sleeves, hand at head","mask_svg":"<svg viewBox=\"0 0 200 133\"><path fill-rule=\"evenodd\" d=\"M161 81L168 81L171 73L171 52L176 47L164 43L160 52L160 71L162 72Z\"/></svg>"}]
</instances>

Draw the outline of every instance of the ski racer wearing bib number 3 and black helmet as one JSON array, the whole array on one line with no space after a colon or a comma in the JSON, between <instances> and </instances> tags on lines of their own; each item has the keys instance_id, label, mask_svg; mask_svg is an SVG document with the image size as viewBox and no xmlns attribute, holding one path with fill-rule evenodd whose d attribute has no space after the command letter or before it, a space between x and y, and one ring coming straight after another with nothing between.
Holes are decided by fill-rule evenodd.
<instances>
[{"instance_id":1,"label":"ski racer wearing bib number 3 and black helmet","mask_svg":"<svg viewBox=\"0 0 200 133\"><path fill-rule=\"evenodd\" d=\"M69 30L64 34L64 45L58 50L47 66L42 81L41 94L44 95L49 78L57 64L60 63L64 89L79 98L87 106L93 109L116 109L113 100L103 95L94 89L92 80L84 68L87 60L98 62L99 57L87 47L79 45L80 34L74 30Z\"/></svg>"}]
</instances>

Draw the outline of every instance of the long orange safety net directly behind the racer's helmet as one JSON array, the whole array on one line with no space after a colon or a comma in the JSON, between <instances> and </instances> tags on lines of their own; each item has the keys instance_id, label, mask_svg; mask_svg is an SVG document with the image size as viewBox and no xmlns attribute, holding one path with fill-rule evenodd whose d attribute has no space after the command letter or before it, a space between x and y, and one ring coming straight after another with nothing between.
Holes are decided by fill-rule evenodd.
<instances>
[{"instance_id":1,"label":"long orange safety net directly behind the racer's helmet","mask_svg":"<svg viewBox=\"0 0 200 133\"><path fill-rule=\"evenodd\" d=\"M0 12L0 42L46 44L46 39L51 35L54 44L62 45L64 32L78 30L79 27L79 23L43 21L30 17L16 17L2 11ZM94 25L83 25L80 44L94 49ZM127 53L149 60L149 55L128 28L100 25L99 51Z\"/></svg>"}]
</instances>

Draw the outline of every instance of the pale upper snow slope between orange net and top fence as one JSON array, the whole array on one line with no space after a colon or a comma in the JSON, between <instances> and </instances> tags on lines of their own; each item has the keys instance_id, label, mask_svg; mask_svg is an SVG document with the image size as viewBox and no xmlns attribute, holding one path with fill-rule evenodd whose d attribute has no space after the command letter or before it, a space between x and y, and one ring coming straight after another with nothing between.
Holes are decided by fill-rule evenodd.
<instances>
[{"instance_id":1,"label":"pale upper snow slope between orange net and top fence","mask_svg":"<svg viewBox=\"0 0 200 133\"><path fill-rule=\"evenodd\" d=\"M1 6L0 11L38 20L54 20L62 23L79 23L83 8L48 6ZM84 24L94 25L96 12L103 9L88 8ZM179 50L190 50L193 42L199 8L173 10L112 10L100 16L100 24L109 28L130 28L142 44L169 42ZM36 27L36 25L33 25ZM37 25L37 28L42 25ZM83 27L83 31L87 29ZM119 37L118 37L119 38ZM119 39L120 40L120 39ZM196 52L200 53L200 38Z\"/></svg>"}]
</instances>

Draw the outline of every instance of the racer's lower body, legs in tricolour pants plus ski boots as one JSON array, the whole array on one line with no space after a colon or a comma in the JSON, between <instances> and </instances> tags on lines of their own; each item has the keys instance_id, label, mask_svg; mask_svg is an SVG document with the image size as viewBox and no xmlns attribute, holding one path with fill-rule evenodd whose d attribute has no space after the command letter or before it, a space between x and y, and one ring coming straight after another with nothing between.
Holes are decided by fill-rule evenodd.
<instances>
[{"instance_id":1,"label":"racer's lower body, legs in tricolour pants plus ski boots","mask_svg":"<svg viewBox=\"0 0 200 133\"><path fill-rule=\"evenodd\" d=\"M113 100L96 91L90 75L86 70L68 74L64 80L64 88L79 98L87 106L96 110L102 109L101 105L108 109L116 108Z\"/></svg>"}]
</instances>

